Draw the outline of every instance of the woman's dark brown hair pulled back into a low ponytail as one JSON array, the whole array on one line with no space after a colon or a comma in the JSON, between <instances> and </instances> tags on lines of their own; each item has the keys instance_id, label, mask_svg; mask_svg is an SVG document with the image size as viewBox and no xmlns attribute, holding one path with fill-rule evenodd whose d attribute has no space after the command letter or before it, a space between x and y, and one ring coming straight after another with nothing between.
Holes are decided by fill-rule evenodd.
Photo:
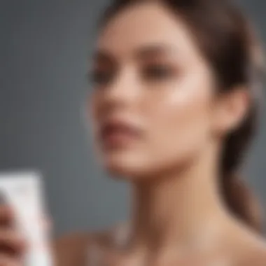
<instances>
[{"instance_id":1,"label":"woman's dark brown hair pulled back into a low ponytail","mask_svg":"<svg viewBox=\"0 0 266 266\"><path fill-rule=\"evenodd\" d=\"M151 0L150 0L151 1ZM104 27L120 10L144 0L116 0L107 8ZM251 106L235 132L225 139L221 157L221 193L238 218L261 229L258 204L236 175L258 123L258 90L262 73L260 48L249 22L229 0L158 0L179 15L210 63L218 80L218 93L232 92L241 85L251 96Z\"/></svg>"}]
</instances>

